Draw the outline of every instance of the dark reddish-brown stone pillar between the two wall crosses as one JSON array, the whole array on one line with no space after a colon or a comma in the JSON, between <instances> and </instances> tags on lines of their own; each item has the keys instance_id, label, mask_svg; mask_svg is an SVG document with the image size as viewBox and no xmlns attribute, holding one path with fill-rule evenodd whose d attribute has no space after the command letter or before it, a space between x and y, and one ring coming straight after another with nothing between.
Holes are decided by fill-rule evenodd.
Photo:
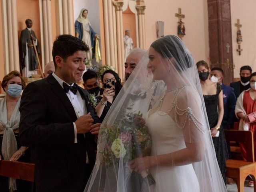
<instances>
[{"instance_id":1,"label":"dark reddish-brown stone pillar between the two wall crosses","mask_svg":"<svg viewBox=\"0 0 256 192\"><path fill-rule=\"evenodd\" d=\"M233 53L230 0L207 0L209 20L210 67L224 70L224 84L233 81ZM229 44L229 49L226 45Z\"/></svg>"}]
</instances>

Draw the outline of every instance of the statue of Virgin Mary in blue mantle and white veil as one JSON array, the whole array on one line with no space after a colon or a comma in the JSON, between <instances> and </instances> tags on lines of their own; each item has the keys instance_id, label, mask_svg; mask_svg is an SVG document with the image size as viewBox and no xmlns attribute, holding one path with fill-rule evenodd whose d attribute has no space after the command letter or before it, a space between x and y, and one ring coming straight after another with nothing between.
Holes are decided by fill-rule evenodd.
<instances>
[{"instance_id":1,"label":"statue of Virgin Mary in blue mantle and white veil","mask_svg":"<svg viewBox=\"0 0 256 192\"><path fill-rule=\"evenodd\" d=\"M89 64L92 63L92 58L95 57L95 42L98 41L100 36L94 32L94 30L91 27L91 24L89 20L87 19L88 16L88 10L85 8L82 8L80 11L80 14L75 22L75 32L76 37L83 40L88 46L89 51L86 52L86 60ZM96 54L100 54L100 50L96 50ZM98 53L99 52L99 53Z\"/></svg>"}]
</instances>

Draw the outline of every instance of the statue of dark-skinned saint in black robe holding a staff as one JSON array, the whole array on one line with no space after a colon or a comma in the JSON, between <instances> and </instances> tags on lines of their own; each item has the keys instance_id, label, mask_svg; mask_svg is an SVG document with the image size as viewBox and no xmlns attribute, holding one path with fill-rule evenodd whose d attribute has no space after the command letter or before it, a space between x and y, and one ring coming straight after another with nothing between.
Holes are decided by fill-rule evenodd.
<instances>
[{"instance_id":1,"label":"statue of dark-skinned saint in black robe holding a staff","mask_svg":"<svg viewBox=\"0 0 256 192\"><path fill-rule=\"evenodd\" d=\"M34 45L38 55L40 50L36 34L31 29L33 25L32 20L26 19L25 23L27 27L20 34L20 71L22 71L23 77L30 77L38 67Z\"/></svg>"}]
</instances>

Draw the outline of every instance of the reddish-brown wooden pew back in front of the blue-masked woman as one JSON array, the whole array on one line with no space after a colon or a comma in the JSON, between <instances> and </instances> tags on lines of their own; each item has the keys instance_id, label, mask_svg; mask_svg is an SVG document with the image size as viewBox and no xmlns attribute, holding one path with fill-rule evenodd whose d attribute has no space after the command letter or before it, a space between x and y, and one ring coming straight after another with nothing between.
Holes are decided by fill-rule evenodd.
<instances>
[{"instance_id":1,"label":"reddish-brown wooden pew back in front of the blue-masked woman","mask_svg":"<svg viewBox=\"0 0 256 192\"><path fill-rule=\"evenodd\" d=\"M22 179L26 181L34 181L35 165L32 163L24 163L19 161L0 160L0 175Z\"/></svg>"}]
</instances>

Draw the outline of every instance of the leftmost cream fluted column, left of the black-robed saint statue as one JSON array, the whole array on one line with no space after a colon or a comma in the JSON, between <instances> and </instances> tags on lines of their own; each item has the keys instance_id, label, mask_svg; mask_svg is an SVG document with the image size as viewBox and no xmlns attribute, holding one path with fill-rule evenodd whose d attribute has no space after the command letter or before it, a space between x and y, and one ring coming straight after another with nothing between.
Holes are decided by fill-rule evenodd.
<instances>
[{"instance_id":1,"label":"leftmost cream fluted column, left of the black-robed saint statue","mask_svg":"<svg viewBox=\"0 0 256 192\"><path fill-rule=\"evenodd\" d=\"M20 71L16 0L3 0L5 74Z\"/></svg>"}]
</instances>

